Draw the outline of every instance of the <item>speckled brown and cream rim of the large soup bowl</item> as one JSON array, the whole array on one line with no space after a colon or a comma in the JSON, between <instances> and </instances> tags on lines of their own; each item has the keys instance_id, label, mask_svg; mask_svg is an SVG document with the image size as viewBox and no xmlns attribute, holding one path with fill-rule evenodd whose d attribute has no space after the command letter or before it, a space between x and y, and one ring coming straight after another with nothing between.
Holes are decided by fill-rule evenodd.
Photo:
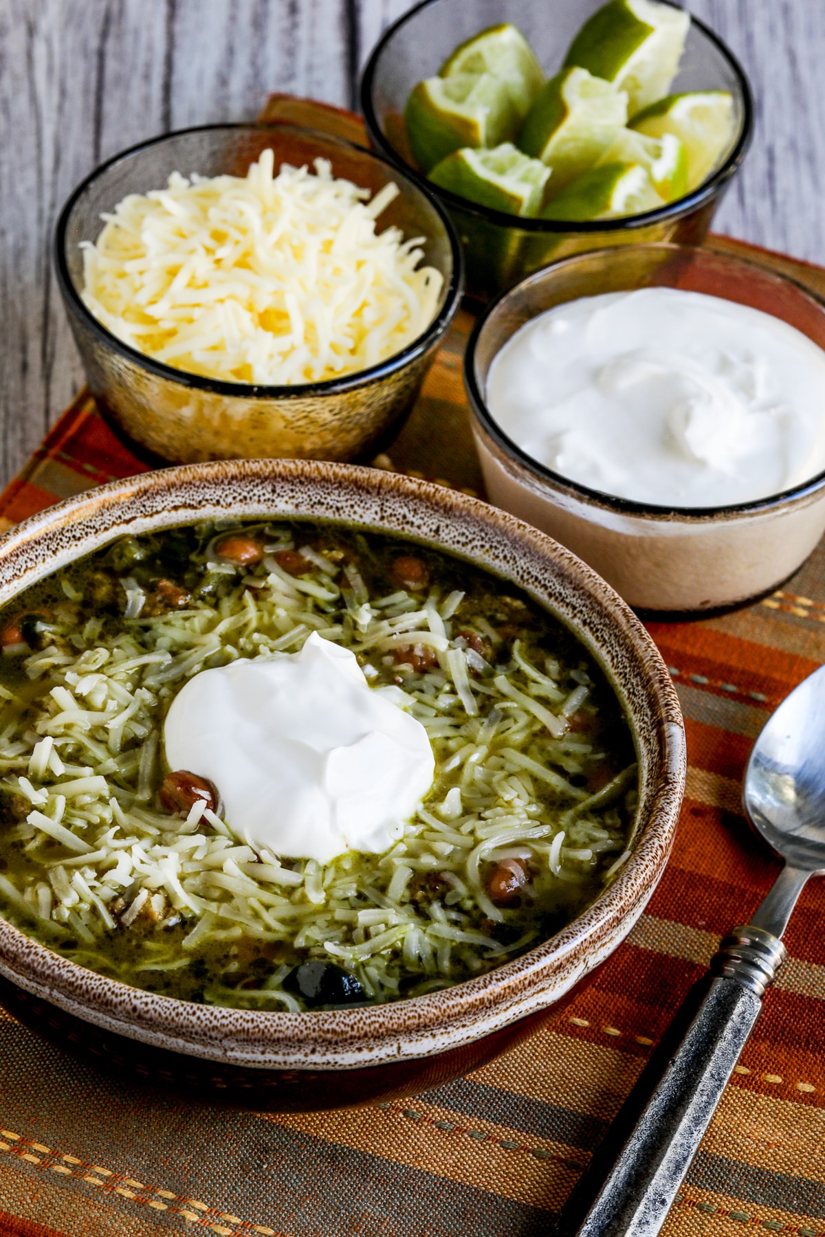
<instances>
[{"instance_id":1,"label":"speckled brown and cream rim of the large soup bowl","mask_svg":"<svg viewBox=\"0 0 825 1237\"><path fill-rule=\"evenodd\" d=\"M513 516L427 481L303 460L181 465L114 481L32 516L0 538L0 604L124 533L242 515L396 531L511 579L558 614L607 672L633 724L643 824L630 858L592 905L549 941L469 982L385 1006L265 1013L177 1001L95 975L1 918L0 972L104 1029L260 1069L356 1068L429 1056L552 1004L627 934L670 851L685 738L675 690L652 640L600 576ZM542 580L557 586L558 602L548 602ZM620 685L612 667L622 659L627 682Z\"/></svg>"}]
</instances>

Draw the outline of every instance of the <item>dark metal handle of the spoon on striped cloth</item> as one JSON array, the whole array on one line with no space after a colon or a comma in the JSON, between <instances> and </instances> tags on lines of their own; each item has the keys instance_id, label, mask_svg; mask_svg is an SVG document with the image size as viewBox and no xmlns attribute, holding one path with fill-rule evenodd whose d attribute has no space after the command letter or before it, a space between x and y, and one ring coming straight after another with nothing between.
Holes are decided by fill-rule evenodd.
<instances>
[{"instance_id":1,"label":"dark metal handle of the spoon on striped cloth","mask_svg":"<svg viewBox=\"0 0 825 1237\"><path fill-rule=\"evenodd\" d=\"M784 957L761 928L735 928L722 941L596 1149L559 1233L659 1232Z\"/></svg>"}]
</instances>

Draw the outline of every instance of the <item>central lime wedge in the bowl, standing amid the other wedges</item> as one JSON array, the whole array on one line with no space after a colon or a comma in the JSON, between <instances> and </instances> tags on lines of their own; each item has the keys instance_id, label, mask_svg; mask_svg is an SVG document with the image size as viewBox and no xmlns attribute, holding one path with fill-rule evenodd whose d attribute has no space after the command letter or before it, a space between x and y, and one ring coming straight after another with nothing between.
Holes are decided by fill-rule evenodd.
<instances>
[{"instance_id":1,"label":"central lime wedge in the bowl, standing amid the other wedges","mask_svg":"<svg viewBox=\"0 0 825 1237\"><path fill-rule=\"evenodd\" d=\"M562 69L542 88L518 145L553 168L553 188L562 189L599 162L626 121L623 90L586 69Z\"/></svg>"}]
</instances>

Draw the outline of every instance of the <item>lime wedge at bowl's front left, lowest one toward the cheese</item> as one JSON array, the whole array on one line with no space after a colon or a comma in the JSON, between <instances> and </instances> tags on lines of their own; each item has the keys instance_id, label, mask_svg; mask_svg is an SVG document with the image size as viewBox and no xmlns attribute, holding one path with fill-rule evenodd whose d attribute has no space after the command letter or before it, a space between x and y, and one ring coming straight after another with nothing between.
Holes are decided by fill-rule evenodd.
<instances>
[{"instance_id":1,"label":"lime wedge at bowl's front left, lowest one toward the cheese","mask_svg":"<svg viewBox=\"0 0 825 1237\"><path fill-rule=\"evenodd\" d=\"M429 179L460 198L523 216L538 214L549 174L541 160L502 142L491 151L468 147L448 155Z\"/></svg>"}]
</instances>

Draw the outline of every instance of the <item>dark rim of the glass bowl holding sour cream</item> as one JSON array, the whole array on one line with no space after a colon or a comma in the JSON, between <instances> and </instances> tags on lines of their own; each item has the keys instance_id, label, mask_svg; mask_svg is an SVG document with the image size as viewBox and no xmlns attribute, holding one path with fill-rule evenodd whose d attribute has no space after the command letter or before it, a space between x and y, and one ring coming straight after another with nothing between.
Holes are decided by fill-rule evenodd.
<instances>
[{"instance_id":1,"label":"dark rim of the glass bowl holding sour cream","mask_svg":"<svg viewBox=\"0 0 825 1237\"><path fill-rule=\"evenodd\" d=\"M429 0L427 0L429 2ZM762 277L773 280L779 285L788 285L794 288L797 293L800 293L805 299L810 301L819 309L820 314L825 315L825 297L820 297L811 288L805 287L799 280L794 280L789 275L780 275L778 271L773 271L768 266L763 266L761 262L754 261L750 257L740 257L738 255L726 254L722 250L714 250L705 247L703 245L674 245L668 241L652 241L649 244L635 245L633 251L649 251L656 252L672 252L672 254L699 254L703 256L710 256L717 261L729 263L730 266L737 266L745 268L746 273L758 273ZM498 310L502 303L513 293L519 292L526 285L537 283L545 280L548 275L552 276L559 267L570 266L575 262L584 262L594 257L613 257L616 254L615 247L606 249L594 249L588 250L584 254L571 254L568 257L562 257L555 262L550 262L548 266L543 267L541 271L534 271L526 278L519 280L513 287L507 288L502 292L495 301L485 307L484 312L479 317L475 327L470 333L468 339L466 350L464 354L464 386L469 397L470 409L475 419L485 429L485 432L492 438L496 445L506 455L519 464L527 473L534 476L537 480L542 481L544 485L549 486L554 491L562 491L563 494L570 495L575 499L583 501L586 506L596 506L605 508L607 511L616 512L617 515L626 516L642 516L648 520L674 520L680 523L706 523L709 520L716 518L730 518L736 516L757 516L783 503L805 499L809 495L815 494L825 486L825 470L816 473L814 476L808 477L805 481L800 481L798 485L792 486L788 490L780 490L777 494L769 494L763 499L751 499L748 502L732 502L724 506L715 507L678 507L678 506L664 506L653 502L638 502L635 499L622 499L615 494L605 494L602 490L594 490L590 486L583 485L580 481L574 481L568 476L563 476L562 473L555 473L553 469L547 468L539 460L528 455L527 452L522 450L517 443L510 438L508 434L498 426L492 413L487 408L486 400L481 393L480 386L475 377L475 354L481 339L481 333L486 324L491 320L494 314ZM595 294L595 293L594 293ZM574 298L578 299L578 298ZM564 303L564 302L562 302ZM544 312L544 310L542 310ZM763 310L764 312L764 310ZM534 317L538 317L534 315ZM778 317L774 314L773 317ZM779 319L784 322L784 319ZM519 328L521 329L521 328ZM515 332L513 332L515 334ZM511 336L512 338L512 336ZM808 338L808 336L805 336ZM811 340L813 343L813 340ZM823 350L825 351L825 350Z\"/></svg>"}]
</instances>

